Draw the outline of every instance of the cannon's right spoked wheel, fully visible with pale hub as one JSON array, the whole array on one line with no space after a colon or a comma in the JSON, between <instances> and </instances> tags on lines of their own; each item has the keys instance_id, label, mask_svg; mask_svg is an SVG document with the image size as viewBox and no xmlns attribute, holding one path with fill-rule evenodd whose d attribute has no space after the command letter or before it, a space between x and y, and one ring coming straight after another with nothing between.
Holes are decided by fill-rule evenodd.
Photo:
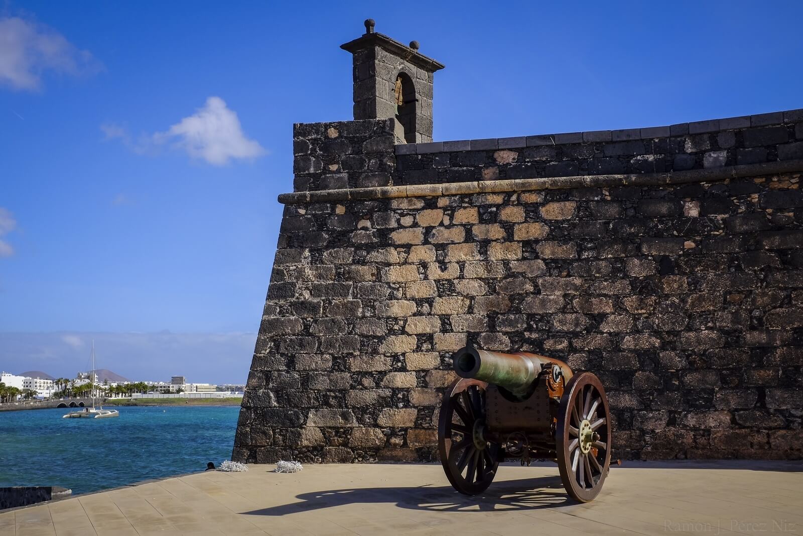
<instances>
[{"instance_id":1,"label":"cannon's right spoked wheel, fully visible with pale hub","mask_svg":"<svg viewBox=\"0 0 803 536\"><path fill-rule=\"evenodd\" d=\"M605 389L590 372L575 374L560 398L555 446L560 480L571 497L593 501L610 465L610 410Z\"/></svg>"}]
</instances>

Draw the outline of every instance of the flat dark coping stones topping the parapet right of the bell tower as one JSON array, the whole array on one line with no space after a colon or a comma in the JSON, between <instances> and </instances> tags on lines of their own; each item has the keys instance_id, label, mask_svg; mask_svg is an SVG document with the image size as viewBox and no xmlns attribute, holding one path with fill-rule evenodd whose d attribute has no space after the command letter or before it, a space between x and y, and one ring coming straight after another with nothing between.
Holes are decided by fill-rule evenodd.
<instances>
[{"instance_id":1,"label":"flat dark coping stones topping the parapet right of the bell tower","mask_svg":"<svg viewBox=\"0 0 803 536\"><path fill-rule=\"evenodd\" d=\"M770 125L785 125L803 121L803 108L785 112L759 113L752 116L727 117L654 126L644 129L593 130L537 136L491 137L484 140L433 141L396 145L396 154L446 153L453 151L479 151L493 149L519 149L537 145L565 143L591 143L595 141L652 140L659 137L687 136L688 134L714 133L721 130L747 129Z\"/></svg>"}]
</instances>

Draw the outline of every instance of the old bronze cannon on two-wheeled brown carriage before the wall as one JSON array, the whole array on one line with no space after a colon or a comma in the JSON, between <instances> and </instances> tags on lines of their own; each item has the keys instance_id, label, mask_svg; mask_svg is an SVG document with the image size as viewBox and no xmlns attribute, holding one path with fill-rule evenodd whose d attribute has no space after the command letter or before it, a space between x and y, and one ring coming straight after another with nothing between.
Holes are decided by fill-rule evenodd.
<instances>
[{"instance_id":1,"label":"old bronze cannon on two-wheeled brown carriage before the wall","mask_svg":"<svg viewBox=\"0 0 803 536\"><path fill-rule=\"evenodd\" d=\"M543 355L473 346L452 359L461 378L443 396L438 451L454 489L482 493L503 460L548 459L571 497L597 497L610 465L611 422L595 374Z\"/></svg>"}]
</instances>

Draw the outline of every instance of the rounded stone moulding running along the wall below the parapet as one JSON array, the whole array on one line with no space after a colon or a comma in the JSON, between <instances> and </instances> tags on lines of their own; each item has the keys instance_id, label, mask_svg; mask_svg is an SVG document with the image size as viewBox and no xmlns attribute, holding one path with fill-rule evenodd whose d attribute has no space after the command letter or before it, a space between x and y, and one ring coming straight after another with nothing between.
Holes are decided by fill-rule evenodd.
<instances>
[{"instance_id":1,"label":"rounded stone moulding running along the wall below the parapet","mask_svg":"<svg viewBox=\"0 0 803 536\"><path fill-rule=\"evenodd\" d=\"M659 186L688 182L718 182L731 178L759 177L762 175L803 172L803 160L763 162L743 166L724 166L705 170L666 171L662 173L581 175L577 177L516 178L498 181L446 182L410 186L375 186L372 188L346 188L342 190L316 190L279 194L279 203L327 203L358 199L386 199L406 197L432 197L460 194L487 194L493 192L562 190L569 188Z\"/></svg>"}]
</instances>

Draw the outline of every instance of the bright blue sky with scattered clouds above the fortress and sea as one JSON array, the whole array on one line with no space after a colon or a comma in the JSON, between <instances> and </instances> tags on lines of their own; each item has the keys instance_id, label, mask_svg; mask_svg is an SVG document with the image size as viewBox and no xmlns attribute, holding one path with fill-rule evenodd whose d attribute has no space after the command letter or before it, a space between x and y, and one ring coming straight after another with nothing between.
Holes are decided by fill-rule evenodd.
<instances>
[{"instance_id":1,"label":"bright blue sky with scattered clouds above the fortress and sea","mask_svg":"<svg viewBox=\"0 0 803 536\"><path fill-rule=\"evenodd\" d=\"M801 2L6 2L0 369L244 381L291 125L351 118L369 17L446 64L436 140L803 107Z\"/></svg>"}]
</instances>

